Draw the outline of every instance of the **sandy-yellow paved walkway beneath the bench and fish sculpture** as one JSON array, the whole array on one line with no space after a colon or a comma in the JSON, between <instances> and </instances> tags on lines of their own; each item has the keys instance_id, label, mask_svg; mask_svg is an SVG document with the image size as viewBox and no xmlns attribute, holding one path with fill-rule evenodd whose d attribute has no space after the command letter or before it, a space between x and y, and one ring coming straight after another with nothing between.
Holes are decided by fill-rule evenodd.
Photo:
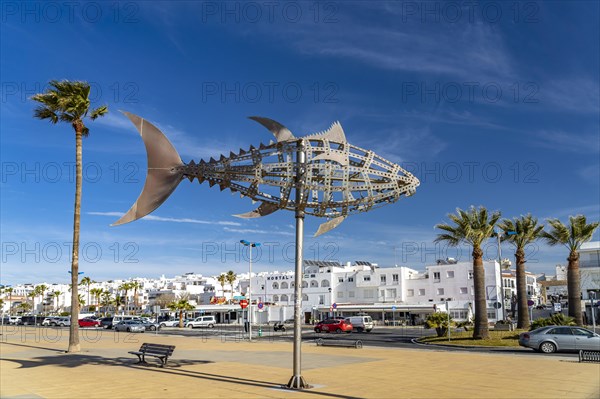
<instances>
[{"instance_id":1,"label":"sandy-yellow paved walkway beneath the bench and fish sculpture","mask_svg":"<svg viewBox=\"0 0 600 399\"><path fill-rule=\"evenodd\" d=\"M57 335L57 332L58 335ZM107 330L82 332L66 354L67 329L5 327L2 398L599 398L600 364L575 358L416 349L302 345L314 388L281 389L292 344L232 342ZM142 342L176 345L166 368L136 365Z\"/></svg>"}]
</instances>

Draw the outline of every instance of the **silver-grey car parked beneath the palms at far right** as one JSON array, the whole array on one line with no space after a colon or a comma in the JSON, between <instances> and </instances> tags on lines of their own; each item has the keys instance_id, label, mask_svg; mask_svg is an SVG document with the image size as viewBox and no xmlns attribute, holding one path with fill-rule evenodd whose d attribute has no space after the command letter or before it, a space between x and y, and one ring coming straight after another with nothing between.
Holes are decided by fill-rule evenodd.
<instances>
[{"instance_id":1,"label":"silver-grey car parked beneath the palms at far right","mask_svg":"<svg viewBox=\"0 0 600 399\"><path fill-rule=\"evenodd\" d=\"M519 345L544 353L600 351L600 335L576 326L546 326L519 334Z\"/></svg>"}]
</instances>

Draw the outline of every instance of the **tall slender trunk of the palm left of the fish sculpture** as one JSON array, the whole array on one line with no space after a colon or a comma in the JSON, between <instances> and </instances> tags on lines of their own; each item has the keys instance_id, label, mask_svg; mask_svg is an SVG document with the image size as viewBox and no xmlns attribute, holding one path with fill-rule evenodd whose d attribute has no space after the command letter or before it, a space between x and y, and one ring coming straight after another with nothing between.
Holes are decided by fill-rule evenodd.
<instances>
[{"instance_id":1,"label":"tall slender trunk of the palm left of the fish sculpture","mask_svg":"<svg viewBox=\"0 0 600 399\"><path fill-rule=\"evenodd\" d=\"M71 325L69 327L69 348L67 352L81 351L79 345L79 220L81 218L81 182L82 182L82 131L83 123L73 123L75 128L75 211L73 217L73 255L71 261Z\"/></svg>"}]
</instances>

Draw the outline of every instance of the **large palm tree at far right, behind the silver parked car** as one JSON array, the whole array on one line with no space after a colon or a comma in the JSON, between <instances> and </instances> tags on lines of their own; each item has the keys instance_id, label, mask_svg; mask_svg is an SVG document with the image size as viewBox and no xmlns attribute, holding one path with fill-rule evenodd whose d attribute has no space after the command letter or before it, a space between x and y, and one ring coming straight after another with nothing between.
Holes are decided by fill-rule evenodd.
<instances>
[{"instance_id":1,"label":"large palm tree at far right, behind the silver parked car","mask_svg":"<svg viewBox=\"0 0 600 399\"><path fill-rule=\"evenodd\" d=\"M587 223L584 215L569 216L569 226L565 226L558 219L548 219L549 231L542 231L541 237L548 245L562 244L569 249L567 260L567 291L569 297L569 316L575 323L583 325L581 314L581 284L579 276L579 248L581 244L589 241L598 228L598 222Z\"/></svg>"}]
</instances>

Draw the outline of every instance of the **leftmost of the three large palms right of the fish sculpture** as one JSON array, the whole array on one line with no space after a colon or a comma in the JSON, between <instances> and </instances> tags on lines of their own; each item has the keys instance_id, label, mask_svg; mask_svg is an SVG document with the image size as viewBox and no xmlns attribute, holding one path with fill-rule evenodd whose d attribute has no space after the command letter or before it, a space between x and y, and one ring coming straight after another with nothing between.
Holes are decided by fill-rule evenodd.
<instances>
[{"instance_id":1,"label":"leftmost of the three large palms right of the fish sculpture","mask_svg":"<svg viewBox=\"0 0 600 399\"><path fill-rule=\"evenodd\" d=\"M473 247L473 283L475 290L475 326L474 339L489 338L487 319L487 301L485 295L485 271L483 268L483 251L481 244L494 233L494 225L500 219L500 212L488 214L488 210L480 206L471 206L468 211L457 208L456 214L448 214L453 225L442 223L435 227L443 230L435 242L446 242L456 247L461 243Z\"/></svg>"}]
</instances>

